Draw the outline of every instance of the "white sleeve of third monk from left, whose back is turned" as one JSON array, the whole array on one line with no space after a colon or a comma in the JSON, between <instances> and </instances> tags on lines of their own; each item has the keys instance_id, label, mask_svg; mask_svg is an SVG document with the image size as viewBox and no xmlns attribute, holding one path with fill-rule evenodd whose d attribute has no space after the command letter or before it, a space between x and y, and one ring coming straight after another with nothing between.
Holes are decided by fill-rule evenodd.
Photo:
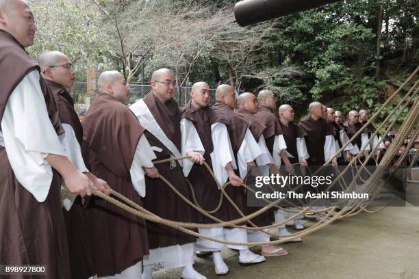
<instances>
[{"instance_id":1,"label":"white sleeve of third monk from left, whose back is turned","mask_svg":"<svg viewBox=\"0 0 419 279\"><path fill-rule=\"evenodd\" d=\"M145 135L141 135L138 141L136 154L132 161L129 174L131 175L131 182L137 193L144 198L146 195L144 168L153 168L153 160L156 158L153 149Z\"/></svg>"}]
</instances>

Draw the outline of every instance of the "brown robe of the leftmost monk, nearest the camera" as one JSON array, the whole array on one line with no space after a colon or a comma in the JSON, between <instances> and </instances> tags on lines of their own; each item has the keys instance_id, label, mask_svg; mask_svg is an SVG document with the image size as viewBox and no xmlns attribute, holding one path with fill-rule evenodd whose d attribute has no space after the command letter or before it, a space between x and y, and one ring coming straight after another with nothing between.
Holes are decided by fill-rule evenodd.
<instances>
[{"instance_id":1,"label":"brown robe of the leftmost monk, nearest the camera","mask_svg":"<svg viewBox=\"0 0 419 279\"><path fill-rule=\"evenodd\" d=\"M39 71L39 67L24 47L8 32L0 30L0 122L10 95L32 70ZM60 134L64 130L51 91L42 78L40 85L51 124ZM42 278L70 278L58 172L53 170L47 199L38 202L16 180L3 147L0 147L0 164L0 265L47 265L47 276Z\"/></svg>"}]
</instances>

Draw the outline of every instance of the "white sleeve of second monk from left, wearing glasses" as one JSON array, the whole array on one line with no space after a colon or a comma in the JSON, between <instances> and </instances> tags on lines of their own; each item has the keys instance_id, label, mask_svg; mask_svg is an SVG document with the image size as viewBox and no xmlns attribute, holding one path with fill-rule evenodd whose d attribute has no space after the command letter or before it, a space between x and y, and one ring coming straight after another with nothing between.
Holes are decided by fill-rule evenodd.
<instances>
[{"instance_id":1,"label":"white sleeve of second monk from left, wearing glasses","mask_svg":"<svg viewBox=\"0 0 419 279\"><path fill-rule=\"evenodd\" d=\"M73 127L65 123L62 123L62 127L65 133L60 135L59 138L68 159L70 159L71 163L75 165L79 172L88 172L89 170L86 168L83 157L81 156L81 147L79 142L77 142Z\"/></svg>"}]
</instances>

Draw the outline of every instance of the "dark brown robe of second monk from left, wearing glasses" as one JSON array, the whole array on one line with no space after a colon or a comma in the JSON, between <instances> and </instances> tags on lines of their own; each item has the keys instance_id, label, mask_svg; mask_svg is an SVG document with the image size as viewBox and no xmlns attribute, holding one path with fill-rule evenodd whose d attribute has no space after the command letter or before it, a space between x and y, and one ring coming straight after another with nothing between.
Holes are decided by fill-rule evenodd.
<instances>
[{"instance_id":1,"label":"dark brown robe of second monk from left, wearing glasses","mask_svg":"<svg viewBox=\"0 0 419 279\"><path fill-rule=\"evenodd\" d=\"M77 141L81 146L83 140L83 127L77 113L74 110L73 98L67 90L54 81L45 80L58 105L58 115L62 123L71 125ZM89 234L86 212L81 205L81 198L77 196L70 211L62 210L68 241L70 256L71 278L89 278L95 274L93 255L90 251L92 235Z\"/></svg>"}]
</instances>

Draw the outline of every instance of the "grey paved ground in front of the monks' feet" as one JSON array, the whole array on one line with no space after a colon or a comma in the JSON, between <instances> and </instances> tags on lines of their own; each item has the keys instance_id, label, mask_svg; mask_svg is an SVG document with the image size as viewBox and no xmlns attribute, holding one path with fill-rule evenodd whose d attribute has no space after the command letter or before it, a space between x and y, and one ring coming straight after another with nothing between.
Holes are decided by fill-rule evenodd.
<instances>
[{"instance_id":1,"label":"grey paved ground in front of the monks' feet","mask_svg":"<svg viewBox=\"0 0 419 279\"><path fill-rule=\"evenodd\" d=\"M214 274L212 256L196 258L195 268L208 279L419 278L419 207L361 213L305 237L302 243L281 246L290 251L288 256L268 258L251 267L238 265L238 254L226 250L227 276ZM259 248L252 250L259 252ZM180 274L181 269L157 271L153 278L178 279Z\"/></svg>"}]
</instances>

